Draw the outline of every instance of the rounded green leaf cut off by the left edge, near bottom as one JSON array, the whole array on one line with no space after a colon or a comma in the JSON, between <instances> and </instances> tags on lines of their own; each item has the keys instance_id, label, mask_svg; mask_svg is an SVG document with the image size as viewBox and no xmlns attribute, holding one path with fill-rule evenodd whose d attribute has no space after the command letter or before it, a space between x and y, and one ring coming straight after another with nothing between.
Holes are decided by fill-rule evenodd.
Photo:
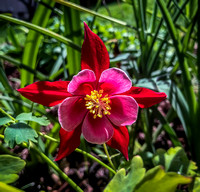
<instances>
[{"instance_id":1,"label":"rounded green leaf cut off by the left edge, near bottom","mask_svg":"<svg viewBox=\"0 0 200 192\"><path fill-rule=\"evenodd\" d=\"M15 182L18 179L18 175L16 173L19 173L24 168L25 164L25 161L19 157L0 155L0 182Z\"/></svg>"}]
</instances>

